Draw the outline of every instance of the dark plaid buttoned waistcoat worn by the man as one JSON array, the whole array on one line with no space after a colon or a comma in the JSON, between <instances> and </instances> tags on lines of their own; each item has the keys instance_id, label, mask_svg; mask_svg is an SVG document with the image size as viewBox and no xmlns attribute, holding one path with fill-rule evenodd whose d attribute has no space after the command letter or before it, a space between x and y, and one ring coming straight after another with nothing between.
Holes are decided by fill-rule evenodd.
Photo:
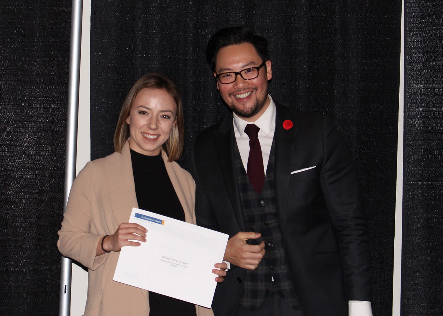
<instances>
[{"instance_id":1,"label":"dark plaid buttoned waistcoat worn by the man","mask_svg":"<svg viewBox=\"0 0 443 316\"><path fill-rule=\"evenodd\" d=\"M292 308L299 309L277 218L274 189L275 139L272 141L261 194L258 194L249 182L237 142L234 142L234 147L237 181L245 215L246 231L261 233L259 239L250 239L248 244L260 244L261 241L264 241L264 249L266 250L259 266L255 270L246 270L239 305L254 311L271 295L272 291L277 291ZM274 282L272 282L272 278Z\"/></svg>"}]
</instances>

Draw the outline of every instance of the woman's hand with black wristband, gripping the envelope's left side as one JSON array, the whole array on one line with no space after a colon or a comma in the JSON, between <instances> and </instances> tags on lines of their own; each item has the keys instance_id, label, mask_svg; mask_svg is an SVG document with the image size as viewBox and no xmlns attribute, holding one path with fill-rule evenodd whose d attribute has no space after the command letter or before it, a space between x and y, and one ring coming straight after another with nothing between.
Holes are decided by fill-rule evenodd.
<instances>
[{"instance_id":1,"label":"woman's hand with black wristband, gripping the envelope's left side","mask_svg":"<svg viewBox=\"0 0 443 316\"><path fill-rule=\"evenodd\" d=\"M131 240L140 240L141 242L146 242L146 233L148 230L141 225L136 223L121 223L117 230L109 236L106 236L103 241L103 249L106 251L118 252L123 246L140 246L140 243ZM103 237L100 238L97 244L97 255L103 255L105 251L101 249L101 241Z\"/></svg>"}]
</instances>

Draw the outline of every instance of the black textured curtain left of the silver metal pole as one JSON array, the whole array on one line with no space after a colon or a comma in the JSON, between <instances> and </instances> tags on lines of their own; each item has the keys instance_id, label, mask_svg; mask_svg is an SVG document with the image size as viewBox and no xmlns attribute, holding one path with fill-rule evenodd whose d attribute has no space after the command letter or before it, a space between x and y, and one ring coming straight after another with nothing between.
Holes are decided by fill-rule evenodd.
<instances>
[{"instance_id":1,"label":"black textured curtain left of the silver metal pole","mask_svg":"<svg viewBox=\"0 0 443 316\"><path fill-rule=\"evenodd\" d=\"M0 4L0 315L58 315L70 15Z\"/></svg>"}]
</instances>

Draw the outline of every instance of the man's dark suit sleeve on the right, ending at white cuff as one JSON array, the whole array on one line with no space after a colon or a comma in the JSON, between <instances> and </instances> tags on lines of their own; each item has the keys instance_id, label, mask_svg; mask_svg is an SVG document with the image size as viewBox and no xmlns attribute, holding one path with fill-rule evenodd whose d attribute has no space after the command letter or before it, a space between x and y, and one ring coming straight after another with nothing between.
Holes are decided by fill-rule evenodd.
<instances>
[{"instance_id":1,"label":"man's dark suit sleeve on the right, ending at white cuff","mask_svg":"<svg viewBox=\"0 0 443 316\"><path fill-rule=\"evenodd\" d=\"M342 256L346 298L371 301L369 233L352 152L329 118L323 139L320 185Z\"/></svg>"}]
</instances>

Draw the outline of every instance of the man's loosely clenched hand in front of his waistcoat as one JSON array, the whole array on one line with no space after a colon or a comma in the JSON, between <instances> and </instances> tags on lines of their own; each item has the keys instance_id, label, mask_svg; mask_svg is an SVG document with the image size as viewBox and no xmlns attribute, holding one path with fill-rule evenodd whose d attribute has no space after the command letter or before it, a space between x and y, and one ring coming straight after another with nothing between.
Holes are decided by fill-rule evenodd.
<instances>
[{"instance_id":1,"label":"man's loosely clenched hand in front of his waistcoat","mask_svg":"<svg viewBox=\"0 0 443 316\"><path fill-rule=\"evenodd\" d=\"M264 256L264 241L259 245L249 245L246 244L246 240L257 239L260 236L258 232L237 232L229 238L223 260L237 267L255 270Z\"/></svg>"}]
</instances>

